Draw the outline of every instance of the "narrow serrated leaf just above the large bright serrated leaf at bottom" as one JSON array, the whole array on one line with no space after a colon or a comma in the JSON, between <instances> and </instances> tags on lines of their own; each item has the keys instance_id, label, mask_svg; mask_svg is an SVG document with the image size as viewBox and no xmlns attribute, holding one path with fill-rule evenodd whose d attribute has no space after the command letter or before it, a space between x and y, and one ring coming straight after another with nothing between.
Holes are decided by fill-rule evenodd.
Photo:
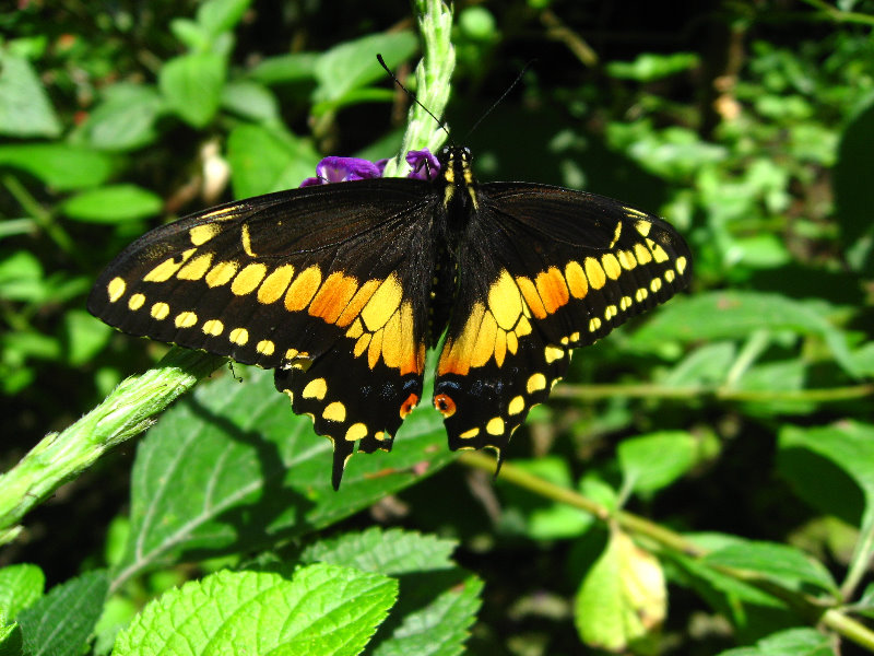
<instances>
[{"instance_id":1,"label":"narrow serrated leaf just above the large bright serrated leaf at bottom","mask_svg":"<svg viewBox=\"0 0 874 656\"><path fill-rule=\"evenodd\" d=\"M410 572L449 570L458 547L454 540L393 528L368 528L363 532L343 534L334 540L322 540L300 554L304 562L327 562L397 576Z\"/></svg>"}]
</instances>

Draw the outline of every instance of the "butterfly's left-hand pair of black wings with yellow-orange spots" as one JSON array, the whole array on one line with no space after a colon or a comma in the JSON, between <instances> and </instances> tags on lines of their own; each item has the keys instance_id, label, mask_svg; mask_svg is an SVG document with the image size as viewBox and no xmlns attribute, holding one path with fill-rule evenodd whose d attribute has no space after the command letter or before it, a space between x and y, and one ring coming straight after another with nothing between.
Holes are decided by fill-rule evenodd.
<instances>
[{"instance_id":1,"label":"butterfly's left-hand pair of black wings with yellow-orange spots","mask_svg":"<svg viewBox=\"0 0 874 656\"><path fill-rule=\"evenodd\" d=\"M101 274L92 314L275 370L334 444L390 449L422 394L430 186L370 179L228 203L147 233Z\"/></svg>"}]
</instances>

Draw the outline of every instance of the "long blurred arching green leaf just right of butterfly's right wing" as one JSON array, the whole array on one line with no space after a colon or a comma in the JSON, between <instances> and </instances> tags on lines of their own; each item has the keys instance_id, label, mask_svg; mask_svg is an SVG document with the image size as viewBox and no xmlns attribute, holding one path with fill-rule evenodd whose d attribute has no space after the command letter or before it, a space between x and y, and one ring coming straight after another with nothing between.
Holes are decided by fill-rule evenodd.
<instances>
[{"instance_id":1,"label":"long blurred arching green leaf just right of butterfly's right wing","mask_svg":"<svg viewBox=\"0 0 874 656\"><path fill-rule=\"evenodd\" d=\"M758 330L788 330L820 337L840 366L855 375L847 336L824 316L829 307L824 302L801 302L759 292L709 292L678 297L637 330L628 347L653 351L672 340L742 339Z\"/></svg>"}]
</instances>

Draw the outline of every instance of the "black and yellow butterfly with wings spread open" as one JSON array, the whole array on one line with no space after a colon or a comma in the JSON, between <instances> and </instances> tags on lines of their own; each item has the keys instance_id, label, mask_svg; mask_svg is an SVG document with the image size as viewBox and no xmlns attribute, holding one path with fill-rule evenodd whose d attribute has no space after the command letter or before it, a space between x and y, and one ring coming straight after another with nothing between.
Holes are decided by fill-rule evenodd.
<instances>
[{"instance_id":1,"label":"black and yellow butterfly with wings spread open","mask_svg":"<svg viewBox=\"0 0 874 656\"><path fill-rule=\"evenodd\" d=\"M468 149L433 179L374 178L232 202L147 233L98 278L107 324L275 370L333 442L389 450L446 340L434 406L449 447L501 449L591 344L689 282L666 222L528 183L477 184Z\"/></svg>"}]
</instances>

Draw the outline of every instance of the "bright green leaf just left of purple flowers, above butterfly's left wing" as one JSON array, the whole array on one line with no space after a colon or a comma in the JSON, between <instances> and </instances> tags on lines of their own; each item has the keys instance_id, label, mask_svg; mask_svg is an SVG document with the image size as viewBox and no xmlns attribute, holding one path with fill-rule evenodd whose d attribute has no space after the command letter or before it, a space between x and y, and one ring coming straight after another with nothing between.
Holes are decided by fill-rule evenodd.
<instances>
[{"instance_id":1,"label":"bright green leaf just left of purple flowers, above butterfly's left wing","mask_svg":"<svg viewBox=\"0 0 874 656\"><path fill-rule=\"evenodd\" d=\"M234 196L248 198L298 187L321 157L309 141L279 128L241 125L227 138Z\"/></svg>"}]
</instances>

